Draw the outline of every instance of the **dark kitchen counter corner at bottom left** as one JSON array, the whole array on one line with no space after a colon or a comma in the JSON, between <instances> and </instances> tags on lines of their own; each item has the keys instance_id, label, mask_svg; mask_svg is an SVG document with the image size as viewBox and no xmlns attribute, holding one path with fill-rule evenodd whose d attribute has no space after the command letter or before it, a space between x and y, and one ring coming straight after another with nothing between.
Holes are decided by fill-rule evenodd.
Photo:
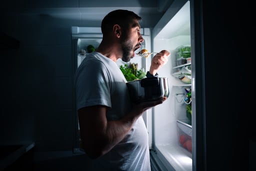
<instances>
[{"instance_id":1,"label":"dark kitchen counter corner at bottom left","mask_svg":"<svg viewBox=\"0 0 256 171\"><path fill-rule=\"evenodd\" d=\"M0 145L0 170L7 168L33 147L34 142L30 144Z\"/></svg>"}]
</instances>

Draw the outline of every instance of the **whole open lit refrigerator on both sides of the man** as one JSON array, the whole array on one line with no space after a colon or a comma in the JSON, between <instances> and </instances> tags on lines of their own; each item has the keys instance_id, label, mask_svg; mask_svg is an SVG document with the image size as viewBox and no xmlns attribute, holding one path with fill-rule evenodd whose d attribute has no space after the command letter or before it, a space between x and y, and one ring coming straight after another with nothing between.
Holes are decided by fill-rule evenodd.
<instances>
[{"instance_id":1,"label":"whole open lit refrigerator on both sides of the man","mask_svg":"<svg viewBox=\"0 0 256 171\"><path fill-rule=\"evenodd\" d=\"M137 52L146 48L153 52L166 49L171 53L168 62L158 70L160 77L168 78L169 96L143 114L149 135L151 170L197 170L200 166L196 163L203 160L202 149L197 148L202 143L199 124L202 120L195 107L195 66L199 60L195 56L192 6L191 0L174 0L154 28L141 28L144 42ZM97 47L101 39L99 27L72 27L74 70L86 57L86 47L89 44ZM139 69L146 71L151 58L152 55L135 56L129 62L117 60L117 64L137 63ZM81 152L77 114L74 121L73 151Z\"/></svg>"}]
</instances>

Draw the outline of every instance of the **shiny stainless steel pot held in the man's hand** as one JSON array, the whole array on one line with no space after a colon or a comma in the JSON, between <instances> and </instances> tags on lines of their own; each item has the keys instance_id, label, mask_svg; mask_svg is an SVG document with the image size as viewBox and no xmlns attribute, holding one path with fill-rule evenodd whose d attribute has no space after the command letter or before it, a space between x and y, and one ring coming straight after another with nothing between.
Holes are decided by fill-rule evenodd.
<instances>
[{"instance_id":1,"label":"shiny stainless steel pot held in the man's hand","mask_svg":"<svg viewBox=\"0 0 256 171\"><path fill-rule=\"evenodd\" d=\"M166 77L148 77L126 83L131 100L135 103L156 100L169 96Z\"/></svg>"}]
</instances>

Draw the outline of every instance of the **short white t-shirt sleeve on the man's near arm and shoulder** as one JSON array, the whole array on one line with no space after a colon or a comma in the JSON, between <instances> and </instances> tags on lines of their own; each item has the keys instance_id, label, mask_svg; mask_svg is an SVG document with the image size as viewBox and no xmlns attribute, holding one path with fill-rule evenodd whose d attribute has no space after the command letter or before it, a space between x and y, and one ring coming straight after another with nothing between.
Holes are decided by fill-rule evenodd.
<instances>
[{"instance_id":1,"label":"short white t-shirt sleeve on the man's near arm and shoulder","mask_svg":"<svg viewBox=\"0 0 256 171\"><path fill-rule=\"evenodd\" d=\"M75 75L76 109L93 105L111 107L109 86L109 74L104 63L87 61Z\"/></svg>"}]
</instances>

